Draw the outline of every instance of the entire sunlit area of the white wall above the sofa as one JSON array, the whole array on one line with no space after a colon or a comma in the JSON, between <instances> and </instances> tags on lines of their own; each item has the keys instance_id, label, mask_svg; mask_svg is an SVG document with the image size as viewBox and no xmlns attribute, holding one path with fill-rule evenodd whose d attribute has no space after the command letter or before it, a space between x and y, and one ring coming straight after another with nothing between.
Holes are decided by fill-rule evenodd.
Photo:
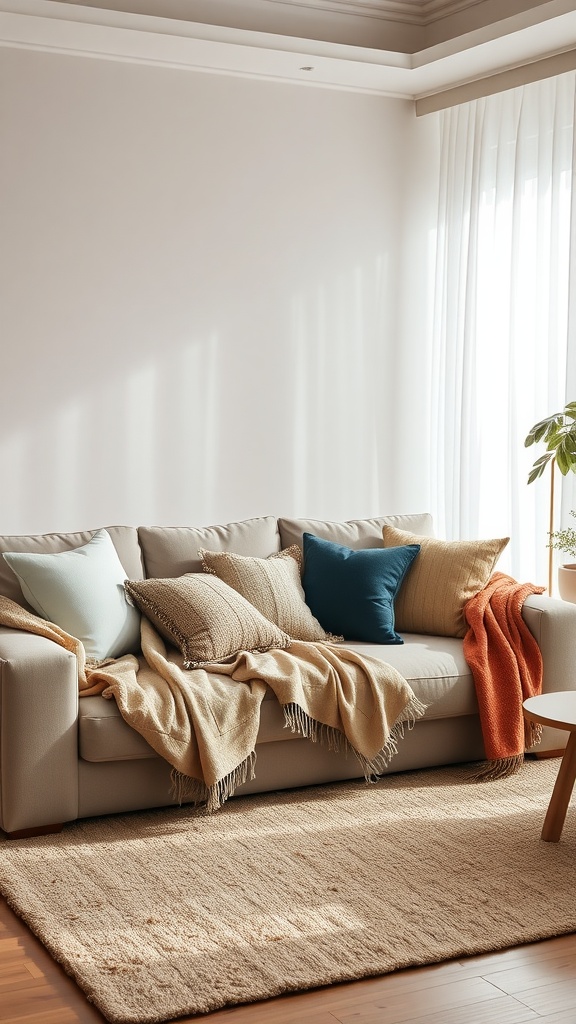
<instances>
[{"instance_id":1,"label":"entire sunlit area of the white wall above the sofa","mask_svg":"<svg viewBox=\"0 0 576 1024\"><path fill-rule=\"evenodd\" d=\"M26 387L0 412L0 530L390 511L386 272L300 289L286 315L278 296L222 311L202 341L149 336L141 357L109 339L66 380L38 359L33 415Z\"/></svg>"}]
</instances>

